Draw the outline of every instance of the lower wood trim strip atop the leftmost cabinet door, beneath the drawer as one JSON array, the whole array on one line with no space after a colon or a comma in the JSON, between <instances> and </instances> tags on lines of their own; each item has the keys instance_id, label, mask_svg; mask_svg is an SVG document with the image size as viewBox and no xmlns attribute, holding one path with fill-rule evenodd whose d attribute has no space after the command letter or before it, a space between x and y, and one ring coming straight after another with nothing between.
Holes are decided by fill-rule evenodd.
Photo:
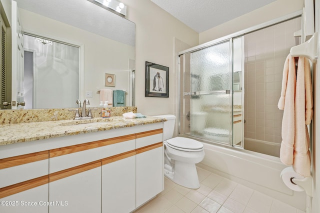
<instances>
[{"instance_id":1,"label":"lower wood trim strip atop the leftmost cabinet door, beneath the drawer","mask_svg":"<svg viewBox=\"0 0 320 213\"><path fill-rule=\"evenodd\" d=\"M29 179L23 182L19 182L13 185L8 185L3 188L0 188L0 198L19 193L21 191L28 190L40 185L44 185L49 182L49 175L44 175L36 177L34 179Z\"/></svg>"}]
</instances>

